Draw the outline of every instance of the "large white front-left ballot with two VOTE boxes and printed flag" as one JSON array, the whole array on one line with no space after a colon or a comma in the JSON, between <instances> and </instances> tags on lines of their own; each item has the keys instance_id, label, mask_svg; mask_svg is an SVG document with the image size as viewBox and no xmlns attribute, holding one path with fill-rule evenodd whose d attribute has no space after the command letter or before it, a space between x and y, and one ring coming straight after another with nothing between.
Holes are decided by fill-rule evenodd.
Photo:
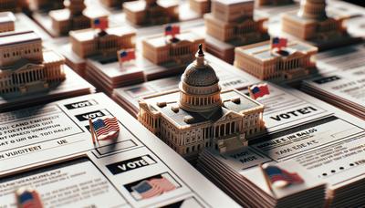
<instances>
[{"instance_id":1,"label":"large white front-left ballot with two VOTE boxes and printed flag","mask_svg":"<svg viewBox=\"0 0 365 208\"><path fill-rule=\"evenodd\" d=\"M115 116L95 145L89 119ZM238 207L102 93L0 114L0 207L31 187L47 207Z\"/></svg>"}]
</instances>

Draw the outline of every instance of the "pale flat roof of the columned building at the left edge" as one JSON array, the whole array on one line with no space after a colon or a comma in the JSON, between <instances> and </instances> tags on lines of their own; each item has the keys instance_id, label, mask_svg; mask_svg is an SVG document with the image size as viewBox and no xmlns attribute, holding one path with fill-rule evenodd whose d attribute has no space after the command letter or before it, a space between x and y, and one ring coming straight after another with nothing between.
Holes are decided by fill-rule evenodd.
<instances>
[{"instance_id":1,"label":"pale flat roof of the columned building at the left edge","mask_svg":"<svg viewBox=\"0 0 365 208\"><path fill-rule=\"evenodd\" d=\"M41 41L41 38L33 31L6 33L4 35L0 35L0 47L32 42L36 40Z\"/></svg>"}]
</instances>

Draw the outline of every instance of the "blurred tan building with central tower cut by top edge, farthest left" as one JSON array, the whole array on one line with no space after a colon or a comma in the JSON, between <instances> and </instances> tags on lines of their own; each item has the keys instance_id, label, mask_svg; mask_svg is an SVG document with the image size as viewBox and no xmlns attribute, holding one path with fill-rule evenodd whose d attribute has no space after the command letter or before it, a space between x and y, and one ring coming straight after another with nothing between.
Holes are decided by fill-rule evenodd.
<instances>
[{"instance_id":1,"label":"blurred tan building with central tower cut by top edge, farthest left","mask_svg":"<svg viewBox=\"0 0 365 208\"><path fill-rule=\"evenodd\" d=\"M65 7L49 12L52 28L58 36L68 35L70 30L89 28L93 19L108 16L99 10L88 10L84 0L66 0Z\"/></svg>"}]
</instances>

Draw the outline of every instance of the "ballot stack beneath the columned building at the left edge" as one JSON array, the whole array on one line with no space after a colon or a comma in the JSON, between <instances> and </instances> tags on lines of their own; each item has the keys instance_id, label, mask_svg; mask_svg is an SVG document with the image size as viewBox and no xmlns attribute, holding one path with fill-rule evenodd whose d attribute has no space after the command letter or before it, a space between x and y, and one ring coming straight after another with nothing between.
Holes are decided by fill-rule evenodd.
<instances>
[{"instance_id":1,"label":"ballot stack beneath the columned building at the left edge","mask_svg":"<svg viewBox=\"0 0 365 208\"><path fill-rule=\"evenodd\" d=\"M95 92L95 88L85 79L80 78L73 70L64 66L64 71L66 79L59 84L49 86L49 88L35 92L29 91L25 95L12 93L0 95L0 112Z\"/></svg>"}]
</instances>

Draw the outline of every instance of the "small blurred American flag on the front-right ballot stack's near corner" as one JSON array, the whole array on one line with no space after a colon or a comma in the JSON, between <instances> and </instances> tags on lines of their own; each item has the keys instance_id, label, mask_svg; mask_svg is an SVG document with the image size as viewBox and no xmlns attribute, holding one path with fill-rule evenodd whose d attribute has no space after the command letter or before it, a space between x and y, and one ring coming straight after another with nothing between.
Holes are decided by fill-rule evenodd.
<instances>
[{"instance_id":1,"label":"small blurred American flag on the front-right ballot stack's near corner","mask_svg":"<svg viewBox=\"0 0 365 208\"><path fill-rule=\"evenodd\" d=\"M281 183L280 187L304 182L297 173L287 172L275 165L268 165L263 169L271 184Z\"/></svg>"}]
</instances>

